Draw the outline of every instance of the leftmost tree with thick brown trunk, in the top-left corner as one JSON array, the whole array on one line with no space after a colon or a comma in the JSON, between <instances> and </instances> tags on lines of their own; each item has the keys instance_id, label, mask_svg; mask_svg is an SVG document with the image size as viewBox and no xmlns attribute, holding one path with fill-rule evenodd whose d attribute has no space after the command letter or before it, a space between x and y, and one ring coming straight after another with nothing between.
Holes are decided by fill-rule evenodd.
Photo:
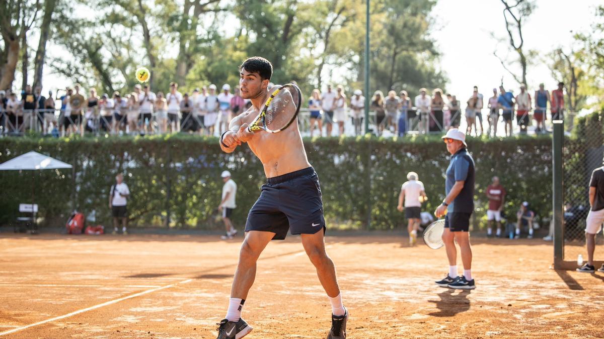
<instances>
[{"instance_id":1,"label":"leftmost tree with thick brown trunk, in the top-left corner","mask_svg":"<svg viewBox=\"0 0 604 339\"><path fill-rule=\"evenodd\" d=\"M0 49L0 89L13 86L19 53L24 47L22 43L26 41L27 32L36 22L39 10L39 0L0 2L0 30L4 42L4 46Z\"/></svg>"}]
</instances>

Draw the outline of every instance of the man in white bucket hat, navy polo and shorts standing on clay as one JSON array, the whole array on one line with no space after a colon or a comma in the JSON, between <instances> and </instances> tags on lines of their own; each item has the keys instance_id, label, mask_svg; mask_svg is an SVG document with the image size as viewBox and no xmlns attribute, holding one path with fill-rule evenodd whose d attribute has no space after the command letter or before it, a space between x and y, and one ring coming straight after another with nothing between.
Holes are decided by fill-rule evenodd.
<instances>
[{"instance_id":1,"label":"man in white bucket hat, navy polo and shorts standing on clay","mask_svg":"<svg viewBox=\"0 0 604 339\"><path fill-rule=\"evenodd\" d=\"M440 287L473 290L472 249L470 247L470 217L474 212L474 159L467 152L466 135L458 128L451 128L442 137L451 154L451 162L446 170L445 200L434 212L435 217L445 216L443 242L449 259L449 273L445 279L436 282ZM461 252L463 275L457 276L457 247Z\"/></svg>"}]
</instances>

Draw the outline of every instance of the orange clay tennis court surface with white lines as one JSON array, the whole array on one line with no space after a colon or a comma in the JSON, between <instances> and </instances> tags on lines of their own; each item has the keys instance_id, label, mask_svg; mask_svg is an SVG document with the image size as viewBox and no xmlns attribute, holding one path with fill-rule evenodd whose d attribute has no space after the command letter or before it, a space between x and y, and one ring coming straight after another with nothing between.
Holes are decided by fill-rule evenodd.
<instances>
[{"instance_id":1,"label":"orange clay tennis court surface with white lines","mask_svg":"<svg viewBox=\"0 0 604 339\"><path fill-rule=\"evenodd\" d=\"M1 338L215 338L239 244L215 236L0 235ZM550 270L551 243L472 239L477 288L433 284L444 249L327 236L349 338L604 337L604 273ZM246 338L325 338L330 306L300 244L269 244Z\"/></svg>"}]
</instances>

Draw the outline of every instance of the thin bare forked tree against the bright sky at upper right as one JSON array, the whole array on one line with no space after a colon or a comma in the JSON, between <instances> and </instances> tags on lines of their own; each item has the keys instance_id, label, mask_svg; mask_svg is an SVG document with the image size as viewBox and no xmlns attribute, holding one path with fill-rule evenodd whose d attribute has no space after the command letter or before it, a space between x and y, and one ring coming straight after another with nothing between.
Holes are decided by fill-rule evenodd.
<instances>
[{"instance_id":1,"label":"thin bare forked tree against the bright sky at upper right","mask_svg":"<svg viewBox=\"0 0 604 339\"><path fill-rule=\"evenodd\" d=\"M493 55L500 60L501 66L509 72L510 75L518 83L527 83L527 57L524 50L524 37L522 36L522 22L524 22L530 14L535 10L535 2L533 0L514 0L511 1L501 0L504 5L503 17L506 21L506 31L509 37L510 47L513 51L518 54L517 62L520 64L522 69L522 77L518 77L515 72L510 70L507 66L507 60L502 59L497 55L497 51L493 52Z\"/></svg>"}]
</instances>

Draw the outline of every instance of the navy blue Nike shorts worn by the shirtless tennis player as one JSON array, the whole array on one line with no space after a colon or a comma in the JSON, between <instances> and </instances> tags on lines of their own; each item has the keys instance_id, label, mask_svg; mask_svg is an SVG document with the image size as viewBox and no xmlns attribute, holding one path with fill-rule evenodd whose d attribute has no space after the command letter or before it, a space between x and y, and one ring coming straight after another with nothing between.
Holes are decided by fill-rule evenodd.
<instances>
[{"instance_id":1,"label":"navy blue Nike shorts worn by the shirtless tennis player","mask_svg":"<svg viewBox=\"0 0 604 339\"><path fill-rule=\"evenodd\" d=\"M245 232L273 232L273 240L292 234L325 231L319 177L312 167L268 178L260 197L249 210Z\"/></svg>"}]
</instances>

